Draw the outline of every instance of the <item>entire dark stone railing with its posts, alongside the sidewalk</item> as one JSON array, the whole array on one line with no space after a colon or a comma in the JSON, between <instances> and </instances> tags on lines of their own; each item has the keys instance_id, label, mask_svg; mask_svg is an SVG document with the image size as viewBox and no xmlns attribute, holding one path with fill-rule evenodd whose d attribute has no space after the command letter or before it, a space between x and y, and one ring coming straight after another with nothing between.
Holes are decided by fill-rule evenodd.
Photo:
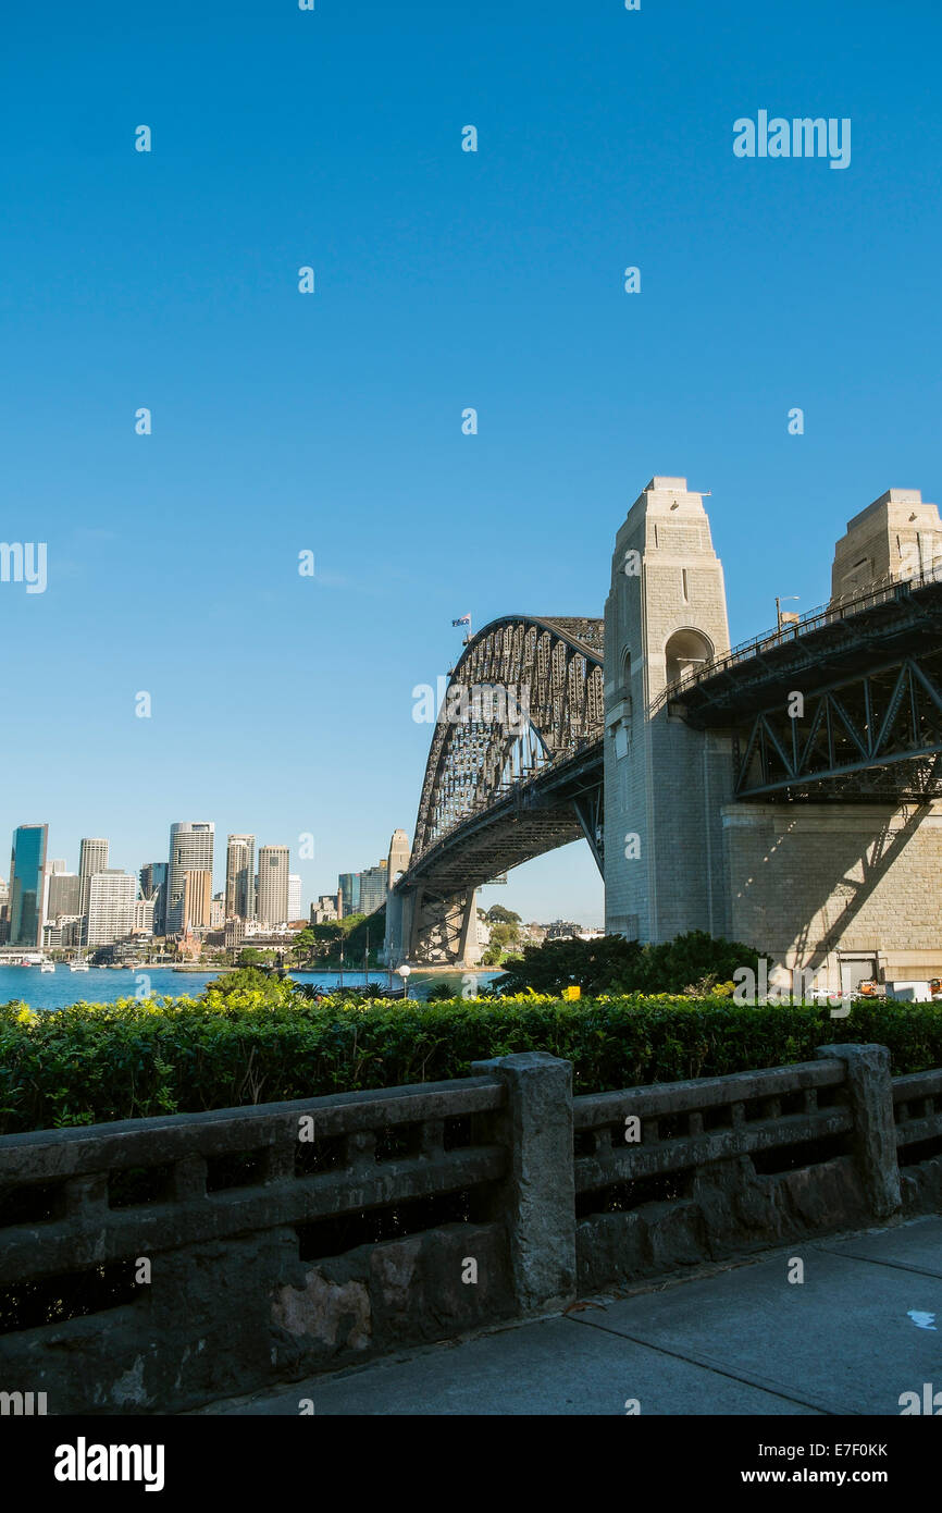
<instances>
[{"instance_id":1,"label":"entire dark stone railing with its posts, alongside the sidewalk","mask_svg":"<svg viewBox=\"0 0 942 1513\"><path fill-rule=\"evenodd\" d=\"M0 1138L0 1389L184 1412L942 1192L942 1068L882 1045L576 1098L541 1052L472 1071Z\"/></svg>"}]
</instances>

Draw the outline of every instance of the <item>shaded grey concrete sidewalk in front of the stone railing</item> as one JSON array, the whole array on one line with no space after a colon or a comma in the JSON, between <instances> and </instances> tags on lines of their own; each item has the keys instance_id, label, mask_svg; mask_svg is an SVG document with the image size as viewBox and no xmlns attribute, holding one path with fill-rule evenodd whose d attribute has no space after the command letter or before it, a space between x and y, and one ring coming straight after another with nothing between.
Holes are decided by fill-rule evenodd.
<instances>
[{"instance_id":1,"label":"shaded grey concrete sidewalk in front of the stone railing","mask_svg":"<svg viewBox=\"0 0 942 1513\"><path fill-rule=\"evenodd\" d=\"M643 1415L900 1415L924 1383L942 1390L942 1218L582 1300L198 1413L296 1416L307 1398L316 1415L367 1416L624 1415L629 1400Z\"/></svg>"}]
</instances>

